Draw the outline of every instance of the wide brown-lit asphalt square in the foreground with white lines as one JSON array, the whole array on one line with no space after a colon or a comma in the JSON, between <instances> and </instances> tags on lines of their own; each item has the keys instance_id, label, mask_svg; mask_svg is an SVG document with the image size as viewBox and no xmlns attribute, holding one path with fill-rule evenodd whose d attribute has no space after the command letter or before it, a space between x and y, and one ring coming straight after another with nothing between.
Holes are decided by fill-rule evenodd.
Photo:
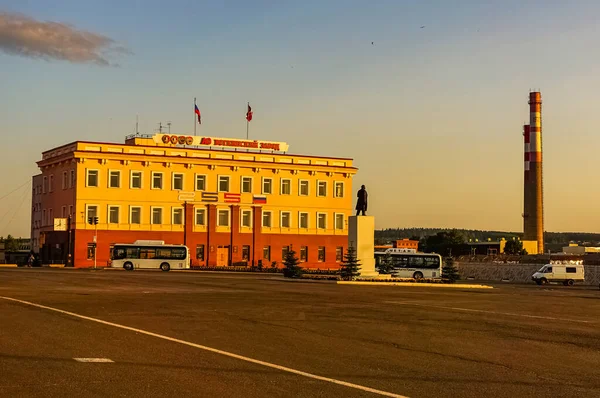
<instances>
[{"instance_id":1,"label":"wide brown-lit asphalt square in the foreground with white lines","mask_svg":"<svg viewBox=\"0 0 600 398\"><path fill-rule=\"evenodd\" d=\"M598 397L599 374L598 287L0 270L0 397Z\"/></svg>"}]
</instances>

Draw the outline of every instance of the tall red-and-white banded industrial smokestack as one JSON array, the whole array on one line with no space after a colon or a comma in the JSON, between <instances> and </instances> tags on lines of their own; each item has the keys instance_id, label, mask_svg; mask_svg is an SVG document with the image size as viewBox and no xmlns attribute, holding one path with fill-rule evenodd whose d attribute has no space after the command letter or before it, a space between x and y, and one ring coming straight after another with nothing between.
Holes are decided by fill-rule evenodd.
<instances>
[{"instance_id":1,"label":"tall red-and-white banded industrial smokestack","mask_svg":"<svg viewBox=\"0 0 600 398\"><path fill-rule=\"evenodd\" d=\"M525 173L523 187L523 240L536 241L544 252L544 192L542 184L542 95L529 93L529 125L523 126Z\"/></svg>"}]
</instances>

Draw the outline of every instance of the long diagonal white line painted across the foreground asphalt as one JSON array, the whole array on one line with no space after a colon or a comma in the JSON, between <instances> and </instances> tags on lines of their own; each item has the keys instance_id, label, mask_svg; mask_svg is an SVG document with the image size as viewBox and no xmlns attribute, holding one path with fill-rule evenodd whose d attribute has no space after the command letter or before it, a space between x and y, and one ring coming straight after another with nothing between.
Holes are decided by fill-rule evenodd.
<instances>
[{"instance_id":1,"label":"long diagonal white line painted across the foreground asphalt","mask_svg":"<svg viewBox=\"0 0 600 398\"><path fill-rule=\"evenodd\" d=\"M234 354L232 352L219 350L217 348L212 348L212 347L204 346L204 345L201 345L201 344L192 343L192 342L189 342L189 341L176 339L176 338L165 336L165 335L162 335L162 334L149 332L149 331L143 330L143 329L136 329L136 328L133 328L131 326L125 326L125 325L120 325L118 323L103 321L102 319L92 318L92 317L85 316L85 315L80 315L80 314L77 314L77 313L74 313L74 312L64 311L64 310L61 310L61 309L58 309L58 308L48 307L48 306L45 306L45 305L36 304L36 303L29 302L29 301L24 301L24 300L19 300L19 299L15 299L15 298L12 298L12 297L3 297L3 296L0 296L0 299L8 300L8 301L13 301L13 302L16 302L16 303L25 304L25 305L29 305L29 306L32 306L32 307L42 308L42 309L45 309L45 310L58 312L58 313L64 314L64 315L70 315L70 316L75 317L75 318L85 319L87 321L97 322L97 323L101 323L103 325L108 325L108 326L112 326L112 327L119 328L119 329L124 329L124 330L129 330L129 331L140 333L140 334L145 334L147 336L157 337L159 339L163 339L163 340L167 340L167 341L172 341L174 343L179 343L179 344L187 345L187 346L198 348L198 349L201 349L201 350L204 350L204 351L209 351L209 352L213 352L215 354L220 354L220 355L223 355L223 356L226 356L226 357L239 359L239 360L245 361L245 362L250 362L250 363L253 363L253 364L256 364L256 365L261 365L261 366L265 366L265 367L268 367L268 368L277 369L277 370L280 370L280 371L283 371L283 372L287 372L287 373L292 373L292 374L299 375L299 376L308 377L310 379L315 379L315 380L320 380L320 381L326 381L326 382L333 383L333 384L338 384L338 385L341 385L341 386L344 386L344 387L354 388L355 390L366 391L366 392L370 392L370 393L381 395L381 396L385 396L385 397L408 398L407 396L404 396L404 395L394 394L394 393L387 392L387 391L377 390L377 389L371 388L371 387L361 386L359 384L348 383L348 382L342 381L342 380L332 379L332 378L329 378L329 377L324 377L324 376L319 376L319 375L308 373L308 372L303 372L301 370L296 370L296 369L288 368L288 367L285 367L285 366L277 365L277 364L274 364L274 363L265 362L265 361L261 361L261 360L258 360L258 359L253 359L253 358L245 357L245 356L242 356L242 355Z\"/></svg>"}]
</instances>

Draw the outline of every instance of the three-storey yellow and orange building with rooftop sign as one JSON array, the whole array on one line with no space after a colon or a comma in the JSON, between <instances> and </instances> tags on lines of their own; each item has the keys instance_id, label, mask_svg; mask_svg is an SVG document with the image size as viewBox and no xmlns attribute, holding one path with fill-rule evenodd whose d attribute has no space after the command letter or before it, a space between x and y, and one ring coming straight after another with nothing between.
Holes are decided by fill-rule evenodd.
<instances>
[{"instance_id":1,"label":"three-storey yellow and orange building with rooftop sign","mask_svg":"<svg viewBox=\"0 0 600 398\"><path fill-rule=\"evenodd\" d=\"M93 265L95 245L106 265L111 245L149 239L186 244L193 265L269 266L291 246L306 267L335 268L357 170L351 159L287 151L281 142L165 134L64 145L38 162L32 220L41 222L32 230L44 260L71 254L77 267Z\"/></svg>"}]
</instances>

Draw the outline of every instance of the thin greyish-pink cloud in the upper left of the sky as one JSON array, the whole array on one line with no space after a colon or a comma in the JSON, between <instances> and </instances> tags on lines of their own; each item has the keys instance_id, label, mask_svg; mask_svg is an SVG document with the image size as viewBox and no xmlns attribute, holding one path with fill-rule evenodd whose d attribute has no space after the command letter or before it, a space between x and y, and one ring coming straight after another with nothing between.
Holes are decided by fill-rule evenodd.
<instances>
[{"instance_id":1,"label":"thin greyish-pink cloud in the upper left of the sky","mask_svg":"<svg viewBox=\"0 0 600 398\"><path fill-rule=\"evenodd\" d=\"M109 37L58 22L0 12L0 51L11 55L72 63L118 66L113 54L130 54Z\"/></svg>"}]
</instances>

